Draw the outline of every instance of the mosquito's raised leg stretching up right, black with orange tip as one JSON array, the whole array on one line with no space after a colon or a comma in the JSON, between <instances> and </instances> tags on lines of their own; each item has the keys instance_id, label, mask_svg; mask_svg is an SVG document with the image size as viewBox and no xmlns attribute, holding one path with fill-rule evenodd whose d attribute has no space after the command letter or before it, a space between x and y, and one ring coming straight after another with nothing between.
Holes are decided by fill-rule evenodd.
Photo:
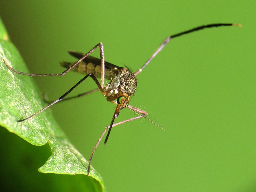
<instances>
[{"instance_id":1,"label":"mosquito's raised leg stretching up right, black with orange tip","mask_svg":"<svg viewBox=\"0 0 256 192\"><path fill-rule=\"evenodd\" d=\"M184 34L188 34L188 33L194 32L194 31L202 30L204 28L212 28L212 27L220 27L220 26L238 26L238 27L243 27L242 25L232 24L232 23L228 23L228 24L227 23L208 24L208 25L202 25L202 26L199 26L199 27L196 27L196 28L193 28L193 29L190 29L190 30L187 30L187 31L175 34L175 35L172 35L172 36L168 36L164 40L164 42L162 42L162 44L158 47L156 52L154 52L154 54L148 59L148 61L142 66L142 68L138 69L134 73L134 75L135 76L138 75L150 63L150 61L162 50L162 48L164 48L164 46L166 46L166 44L168 42L170 42L170 40L172 38L175 38L175 37L178 37L178 36L181 36L181 35L184 35Z\"/></svg>"}]
</instances>

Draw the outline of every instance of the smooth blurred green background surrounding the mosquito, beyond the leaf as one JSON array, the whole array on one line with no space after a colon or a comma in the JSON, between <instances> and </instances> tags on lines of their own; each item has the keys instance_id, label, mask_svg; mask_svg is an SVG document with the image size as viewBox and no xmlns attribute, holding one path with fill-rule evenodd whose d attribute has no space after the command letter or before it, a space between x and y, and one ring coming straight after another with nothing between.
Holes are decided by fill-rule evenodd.
<instances>
[{"instance_id":1,"label":"smooth blurred green background surrounding the mosquito, beyond the leaf","mask_svg":"<svg viewBox=\"0 0 256 192\"><path fill-rule=\"evenodd\" d=\"M32 73L59 73L67 50L104 44L106 61L134 71L168 35L237 23L172 40L137 76L133 106L149 117L113 128L92 166L107 191L256 190L255 1L0 1L0 16ZM99 51L93 54L99 58ZM82 75L34 78L55 100ZM96 88L88 79L72 95ZM89 159L115 106L100 92L50 110ZM134 117L122 110L116 122Z\"/></svg>"}]
</instances>

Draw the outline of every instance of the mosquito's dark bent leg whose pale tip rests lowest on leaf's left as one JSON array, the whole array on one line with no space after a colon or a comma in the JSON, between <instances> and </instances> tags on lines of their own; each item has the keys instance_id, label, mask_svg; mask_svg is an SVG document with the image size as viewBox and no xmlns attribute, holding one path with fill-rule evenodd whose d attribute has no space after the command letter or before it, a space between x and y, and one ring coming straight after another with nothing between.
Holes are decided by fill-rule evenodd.
<instances>
[{"instance_id":1,"label":"mosquito's dark bent leg whose pale tip rests lowest on leaf's left","mask_svg":"<svg viewBox=\"0 0 256 192\"><path fill-rule=\"evenodd\" d=\"M94 74L89 73L89 74L87 74L86 76L84 76L84 78L82 78L79 82L77 82L72 88L70 88L70 90L68 90L64 95L62 95L60 98L58 98L56 101L52 102L50 105L46 106L46 107L43 108L42 110L36 112L36 113L33 114L32 116L29 116L29 117L24 118L24 119L22 119L22 120L18 120L18 122L22 122L22 121L24 121L24 120L27 120L27 119L29 119L29 118L32 118L32 117L36 116L37 114L39 114L40 112L46 110L46 109L49 108L50 106L52 106L52 105L56 104L57 102L61 101L61 100L64 99L72 90L74 90L74 88L76 88L80 83L82 83L82 82L83 82L86 78L88 78L89 76L95 81L95 83L97 84L98 88L100 89L100 91L102 92L102 94L105 96L105 92L104 92L104 90L102 89L102 87L100 86L100 83L98 82L97 78L94 76Z\"/></svg>"}]
</instances>

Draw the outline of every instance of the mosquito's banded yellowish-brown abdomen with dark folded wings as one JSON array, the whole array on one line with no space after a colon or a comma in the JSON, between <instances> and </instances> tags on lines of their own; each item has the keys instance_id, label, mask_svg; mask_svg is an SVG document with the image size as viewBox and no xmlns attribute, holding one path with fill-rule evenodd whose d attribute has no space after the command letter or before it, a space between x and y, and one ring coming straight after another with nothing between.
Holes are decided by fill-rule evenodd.
<instances>
[{"instance_id":1,"label":"mosquito's banded yellowish-brown abdomen with dark folded wings","mask_svg":"<svg viewBox=\"0 0 256 192\"><path fill-rule=\"evenodd\" d=\"M84 56L83 53L79 53L75 51L68 51L68 53L77 59L80 59ZM61 62L60 64L63 67L69 68L74 64L74 62L73 63ZM121 73L122 69L123 67L118 67L114 64L111 64L105 61L105 79L108 79L108 80L113 79L116 75ZM76 65L72 70L85 75L89 73L93 73L97 78L100 78L100 73L101 73L100 59L92 56L87 56L86 58L84 58L84 60L82 60L82 62Z\"/></svg>"}]
</instances>

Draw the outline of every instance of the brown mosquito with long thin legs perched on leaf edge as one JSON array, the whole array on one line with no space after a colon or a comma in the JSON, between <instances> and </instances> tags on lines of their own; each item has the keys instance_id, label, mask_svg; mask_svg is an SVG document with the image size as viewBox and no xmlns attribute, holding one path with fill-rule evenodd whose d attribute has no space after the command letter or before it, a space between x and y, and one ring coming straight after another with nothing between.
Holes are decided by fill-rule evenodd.
<instances>
[{"instance_id":1,"label":"brown mosquito with long thin legs perched on leaf edge","mask_svg":"<svg viewBox=\"0 0 256 192\"><path fill-rule=\"evenodd\" d=\"M147 112L146 111L129 105L130 97L132 97L134 95L134 92L135 92L136 86L137 86L136 76L140 72L142 72L142 70L150 63L150 61L158 54L158 52L160 52L162 50L162 48L164 48L164 46L166 44L168 44L168 42L170 42L170 40L172 38L175 38L175 37L178 37L178 36L181 36L181 35L184 35L184 34L188 34L188 33L194 32L194 31L202 30L204 28L212 28L212 27L219 27L219 26L240 26L240 27L242 27L242 25L238 25L238 24L223 24L223 23L208 24L208 25L199 26L199 27L193 28L191 30L187 30L187 31L184 31L184 32L172 35L172 36L168 36L162 42L162 44L160 44L160 46L157 48L157 50L154 52L154 54L148 59L148 61L140 69L138 69L135 73L131 72L127 67L119 67L119 66L116 66L114 64L110 64L108 62L105 62L104 48L103 48L102 43L99 43L96 46L94 46L94 48L92 48L86 54L82 54L82 53L78 53L78 52L74 52L74 51L69 51L70 55L78 58L79 60L75 63L62 62L61 65L63 67L66 67L67 70L65 70L64 72L62 72L60 74L27 74L27 73L19 72L15 69L11 68L7 64L7 62L4 61L6 66L10 70L12 70L12 71L14 71L18 74L22 74L22 75L28 75L28 76L63 76L64 74L66 74L70 70L73 70L73 71L76 71L76 72L79 72L79 73L85 75L84 78L82 78L79 82L77 82L72 88L70 88L60 98L51 102L48 106L46 106L42 110L36 112L35 114L33 114L33 115L31 115L27 118L24 118L22 120L18 120L18 122L23 122L23 121L25 121L29 118L32 118L32 117L36 116L37 114L46 110L47 108L56 104L57 102L72 99L72 98L78 98L78 97L90 94L92 92L96 92L97 90L100 90L102 95L105 96L109 102L112 102L112 103L116 104L116 109L114 111L114 115L112 117L110 125L105 127L104 131L102 132L100 138L98 139L96 145L94 146L94 148L92 150L92 154L90 156L90 160L89 160L88 168L87 168L87 175L89 175L90 174L90 164L91 164L91 161L92 161L92 157L94 155L94 152L95 152L98 144L102 140L102 137L106 133L106 130L108 130L108 134L106 136L104 144L106 144L106 142L108 140L108 137L110 135L110 131L111 131L112 127L120 125L120 124L124 124L124 123L132 121L132 120L136 120L136 119L139 119L139 118L145 118L148 121L155 124L156 126L164 129L159 124L156 124L155 122L153 122L152 120L147 118ZM98 47L100 49L100 59L89 56L90 53L92 53ZM82 83L88 77L91 77L94 80L94 82L96 83L98 88L96 88L94 90L91 90L89 92L84 92L84 93L79 94L77 96L73 96L73 97L70 97L70 98L65 98L72 90L74 90L74 88L76 88L80 83ZM100 82L97 80L97 78L100 78ZM105 84L105 79L110 80L110 82ZM138 114L138 116L114 124L115 118L118 117L120 110L122 110L123 108L129 108L130 110L132 110L136 114Z\"/></svg>"}]
</instances>

